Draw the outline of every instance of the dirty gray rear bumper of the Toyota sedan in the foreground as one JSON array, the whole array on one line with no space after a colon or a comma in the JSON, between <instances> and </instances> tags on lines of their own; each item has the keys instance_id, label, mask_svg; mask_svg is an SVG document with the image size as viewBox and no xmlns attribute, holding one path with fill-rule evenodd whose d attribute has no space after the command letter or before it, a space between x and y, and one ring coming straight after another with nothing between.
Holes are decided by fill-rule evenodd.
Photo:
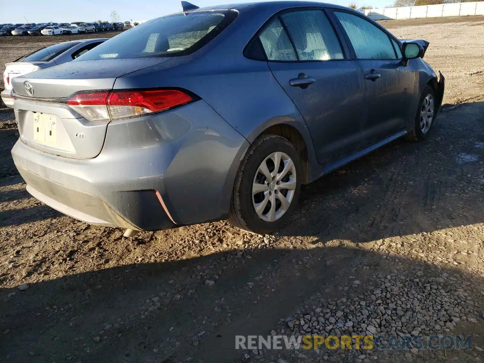
<instances>
[{"instance_id":1,"label":"dirty gray rear bumper of the Toyota sedan in the foreground","mask_svg":"<svg viewBox=\"0 0 484 363\"><path fill-rule=\"evenodd\" d=\"M32 196L108 227L167 229L221 219L249 144L204 101L112 121L101 153L72 159L18 140L12 156Z\"/></svg>"}]
</instances>

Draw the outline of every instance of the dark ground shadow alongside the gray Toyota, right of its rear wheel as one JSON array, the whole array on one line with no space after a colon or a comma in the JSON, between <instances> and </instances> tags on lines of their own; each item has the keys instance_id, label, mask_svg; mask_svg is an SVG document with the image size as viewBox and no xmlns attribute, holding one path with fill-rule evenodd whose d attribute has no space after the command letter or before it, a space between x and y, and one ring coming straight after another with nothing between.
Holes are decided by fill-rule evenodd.
<instances>
[{"instance_id":1,"label":"dark ground shadow alongside the gray Toyota, right of its rear wheel","mask_svg":"<svg viewBox=\"0 0 484 363\"><path fill-rule=\"evenodd\" d=\"M482 223L483 114L484 102L459 105L426 141L396 140L302 186L279 234L366 242Z\"/></svg>"}]
</instances>

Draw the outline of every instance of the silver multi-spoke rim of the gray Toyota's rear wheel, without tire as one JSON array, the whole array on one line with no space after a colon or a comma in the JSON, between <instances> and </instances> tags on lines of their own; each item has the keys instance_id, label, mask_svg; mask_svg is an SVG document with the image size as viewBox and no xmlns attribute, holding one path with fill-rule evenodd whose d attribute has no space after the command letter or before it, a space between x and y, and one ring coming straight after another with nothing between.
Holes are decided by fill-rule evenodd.
<instances>
[{"instance_id":1,"label":"silver multi-spoke rim of the gray Toyota's rear wheel, without tire","mask_svg":"<svg viewBox=\"0 0 484 363\"><path fill-rule=\"evenodd\" d=\"M274 222L287 212L295 194L296 177L293 161L282 151L262 161L252 184L252 203L260 219Z\"/></svg>"}]
</instances>

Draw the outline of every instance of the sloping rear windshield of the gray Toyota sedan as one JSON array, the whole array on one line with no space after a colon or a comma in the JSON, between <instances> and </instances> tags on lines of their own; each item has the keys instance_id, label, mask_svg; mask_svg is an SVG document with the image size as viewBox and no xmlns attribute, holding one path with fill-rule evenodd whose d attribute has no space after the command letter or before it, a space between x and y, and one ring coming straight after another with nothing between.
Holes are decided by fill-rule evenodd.
<instances>
[{"instance_id":1,"label":"sloping rear windshield of the gray Toyota sedan","mask_svg":"<svg viewBox=\"0 0 484 363\"><path fill-rule=\"evenodd\" d=\"M190 54L210 42L236 17L237 12L232 10L163 16L122 32L76 61Z\"/></svg>"}]
</instances>

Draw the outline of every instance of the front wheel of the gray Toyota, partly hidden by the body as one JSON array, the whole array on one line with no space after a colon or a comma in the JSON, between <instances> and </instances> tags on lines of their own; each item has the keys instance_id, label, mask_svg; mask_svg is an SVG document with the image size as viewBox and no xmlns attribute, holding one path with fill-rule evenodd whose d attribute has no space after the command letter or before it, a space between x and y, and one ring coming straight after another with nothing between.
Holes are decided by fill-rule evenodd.
<instances>
[{"instance_id":1,"label":"front wheel of the gray Toyota, partly hidden by the body","mask_svg":"<svg viewBox=\"0 0 484 363\"><path fill-rule=\"evenodd\" d=\"M405 135L405 138L408 141L425 140L435 123L436 116L435 91L432 87L426 85L420 96L415 120L412 124L411 130Z\"/></svg>"}]
</instances>

